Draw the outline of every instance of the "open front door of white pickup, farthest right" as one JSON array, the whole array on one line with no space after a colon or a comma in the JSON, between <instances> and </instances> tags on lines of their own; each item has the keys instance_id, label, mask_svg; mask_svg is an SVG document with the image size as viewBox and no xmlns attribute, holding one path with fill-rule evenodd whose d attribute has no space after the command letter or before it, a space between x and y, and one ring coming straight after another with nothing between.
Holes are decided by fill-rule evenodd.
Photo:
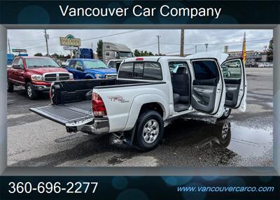
<instances>
[{"instance_id":1,"label":"open front door of white pickup, farthest right","mask_svg":"<svg viewBox=\"0 0 280 200\"><path fill-rule=\"evenodd\" d=\"M246 110L247 79L241 58L228 59L221 65L225 80L225 107Z\"/></svg>"}]
</instances>

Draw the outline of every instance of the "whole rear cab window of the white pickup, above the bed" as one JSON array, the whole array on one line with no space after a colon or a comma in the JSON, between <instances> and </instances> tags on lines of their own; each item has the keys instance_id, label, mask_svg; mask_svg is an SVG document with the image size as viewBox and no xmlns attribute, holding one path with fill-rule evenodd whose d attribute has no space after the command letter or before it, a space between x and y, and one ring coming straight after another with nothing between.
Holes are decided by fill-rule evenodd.
<instances>
[{"instance_id":1,"label":"whole rear cab window of the white pickup, above the bed","mask_svg":"<svg viewBox=\"0 0 280 200\"><path fill-rule=\"evenodd\" d=\"M162 69L157 62L126 62L120 66L118 78L162 80Z\"/></svg>"}]
</instances>

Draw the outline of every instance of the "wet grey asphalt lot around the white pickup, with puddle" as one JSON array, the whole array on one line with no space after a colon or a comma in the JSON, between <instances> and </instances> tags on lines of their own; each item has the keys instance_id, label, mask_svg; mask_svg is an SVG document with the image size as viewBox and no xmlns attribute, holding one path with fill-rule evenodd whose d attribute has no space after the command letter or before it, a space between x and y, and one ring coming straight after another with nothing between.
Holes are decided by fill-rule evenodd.
<instances>
[{"instance_id":1,"label":"wet grey asphalt lot around the white pickup, with puddle","mask_svg":"<svg viewBox=\"0 0 280 200\"><path fill-rule=\"evenodd\" d=\"M249 68L247 80L245 113L219 122L195 114L176 120L151 152L108 134L69 134L28 110L50 103L48 94L31 101L15 90L8 93L8 166L272 166L272 69Z\"/></svg>"}]
</instances>

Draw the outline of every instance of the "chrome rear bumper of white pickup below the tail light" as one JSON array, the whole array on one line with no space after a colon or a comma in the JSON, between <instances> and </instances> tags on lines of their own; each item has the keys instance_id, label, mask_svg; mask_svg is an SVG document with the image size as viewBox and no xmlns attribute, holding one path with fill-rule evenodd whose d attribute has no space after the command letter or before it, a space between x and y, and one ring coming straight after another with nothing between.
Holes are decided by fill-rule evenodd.
<instances>
[{"instance_id":1,"label":"chrome rear bumper of white pickup below the tail light","mask_svg":"<svg viewBox=\"0 0 280 200\"><path fill-rule=\"evenodd\" d=\"M66 130L71 131L82 131L87 134L106 134L109 133L109 119L108 118L94 118L92 122L82 124L78 126L72 126L72 124L66 124Z\"/></svg>"}]
</instances>

